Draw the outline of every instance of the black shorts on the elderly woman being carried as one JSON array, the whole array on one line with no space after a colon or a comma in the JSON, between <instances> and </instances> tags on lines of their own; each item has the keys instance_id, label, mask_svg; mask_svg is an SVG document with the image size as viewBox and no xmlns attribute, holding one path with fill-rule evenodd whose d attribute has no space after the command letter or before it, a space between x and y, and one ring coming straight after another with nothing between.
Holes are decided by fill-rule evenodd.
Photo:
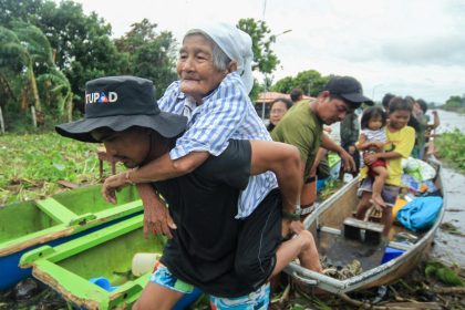
<instances>
[{"instance_id":1,"label":"black shorts on the elderly woman being carried","mask_svg":"<svg viewBox=\"0 0 465 310\"><path fill-rule=\"evenodd\" d=\"M236 272L254 290L267 281L276 266L276 251L282 239L281 226L281 193L273 189L244 219L237 244Z\"/></svg>"}]
</instances>

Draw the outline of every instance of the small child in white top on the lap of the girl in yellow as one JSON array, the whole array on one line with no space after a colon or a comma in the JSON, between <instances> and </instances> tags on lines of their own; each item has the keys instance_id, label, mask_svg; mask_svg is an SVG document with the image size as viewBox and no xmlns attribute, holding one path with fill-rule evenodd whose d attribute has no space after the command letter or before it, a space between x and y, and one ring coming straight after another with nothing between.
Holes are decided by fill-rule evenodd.
<instances>
[{"instance_id":1,"label":"small child in white top on the lap of the girl in yellow","mask_svg":"<svg viewBox=\"0 0 465 310\"><path fill-rule=\"evenodd\" d=\"M356 145L360 151L363 151L363 156L384 152L384 146L391 144L386 141L386 115L384 111L378 106L369 107L363 112L360 123L362 132L360 133ZM383 158L379 158L368 167L370 176L374 178L372 188L373 203L376 208L385 207L384 200L381 197L381 190L388 177L386 162Z\"/></svg>"}]
</instances>

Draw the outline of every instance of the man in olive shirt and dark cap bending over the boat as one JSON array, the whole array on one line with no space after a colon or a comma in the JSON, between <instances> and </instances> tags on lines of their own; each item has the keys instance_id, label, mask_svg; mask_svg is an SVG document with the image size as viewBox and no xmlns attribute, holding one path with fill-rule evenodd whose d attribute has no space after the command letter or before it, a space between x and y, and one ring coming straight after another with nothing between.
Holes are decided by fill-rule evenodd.
<instances>
[{"instance_id":1,"label":"man in olive shirt and dark cap bending over the boat","mask_svg":"<svg viewBox=\"0 0 465 310\"><path fill-rule=\"evenodd\" d=\"M373 104L363 95L359 81L351 76L334 76L317 99L296 104L271 132L273 141L294 145L300 151L304 183L300 200L302 217L314 208L317 195L313 163L320 146L339 153L344 169L355 169L352 156L323 133L323 125L342 121L362 103Z\"/></svg>"}]
</instances>

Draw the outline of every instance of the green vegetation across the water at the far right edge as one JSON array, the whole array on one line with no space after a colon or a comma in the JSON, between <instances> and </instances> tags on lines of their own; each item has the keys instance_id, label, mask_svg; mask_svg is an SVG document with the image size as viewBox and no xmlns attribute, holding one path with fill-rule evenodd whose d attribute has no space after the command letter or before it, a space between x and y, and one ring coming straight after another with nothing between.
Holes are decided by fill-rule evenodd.
<instances>
[{"instance_id":1,"label":"green vegetation across the water at the far right edge","mask_svg":"<svg viewBox=\"0 0 465 310\"><path fill-rule=\"evenodd\" d=\"M452 133L441 134L434 144L437 155L453 167L465 173L465 134L455 130Z\"/></svg>"}]
</instances>

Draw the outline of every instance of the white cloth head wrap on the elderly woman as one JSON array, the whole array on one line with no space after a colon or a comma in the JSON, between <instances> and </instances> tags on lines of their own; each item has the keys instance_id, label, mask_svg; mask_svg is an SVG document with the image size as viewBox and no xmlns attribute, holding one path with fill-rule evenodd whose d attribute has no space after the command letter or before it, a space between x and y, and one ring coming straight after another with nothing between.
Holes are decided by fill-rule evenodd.
<instances>
[{"instance_id":1,"label":"white cloth head wrap on the elderly woman","mask_svg":"<svg viewBox=\"0 0 465 310\"><path fill-rule=\"evenodd\" d=\"M254 86L251 73L254 52L250 35L234 24L225 22L204 24L196 29L207 33L229 59L237 62L237 72L240 74L247 93L250 93Z\"/></svg>"}]
</instances>

